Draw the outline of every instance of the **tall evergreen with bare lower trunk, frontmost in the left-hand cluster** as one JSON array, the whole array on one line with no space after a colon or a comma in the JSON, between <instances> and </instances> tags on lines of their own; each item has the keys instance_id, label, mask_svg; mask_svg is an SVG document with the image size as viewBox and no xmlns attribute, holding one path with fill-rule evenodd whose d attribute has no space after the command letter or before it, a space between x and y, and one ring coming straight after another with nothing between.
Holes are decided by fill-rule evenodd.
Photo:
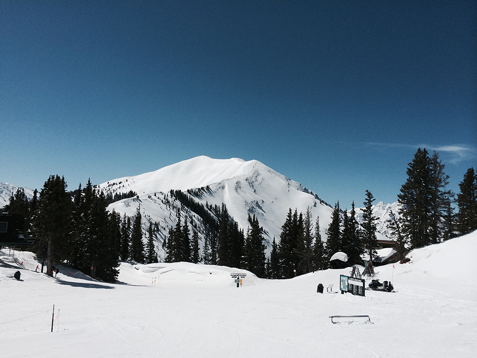
<instances>
[{"instance_id":1,"label":"tall evergreen with bare lower trunk, frontmost in the left-hand cluster","mask_svg":"<svg viewBox=\"0 0 477 358\"><path fill-rule=\"evenodd\" d=\"M71 260L74 252L73 202L66 188L64 177L50 176L38 199L36 225L45 239L42 244L46 246L49 276L53 276L54 263Z\"/></svg>"}]
</instances>

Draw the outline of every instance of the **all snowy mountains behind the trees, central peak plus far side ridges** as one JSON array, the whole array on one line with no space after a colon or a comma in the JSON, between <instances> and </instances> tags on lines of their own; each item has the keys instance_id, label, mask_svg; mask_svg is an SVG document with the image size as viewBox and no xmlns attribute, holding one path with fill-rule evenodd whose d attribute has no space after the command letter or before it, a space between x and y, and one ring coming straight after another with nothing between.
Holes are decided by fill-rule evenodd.
<instances>
[{"instance_id":1,"label":"all snowy mountains behind the trees, central peak plus far side ridges","mask_svg":"<svg viewBox=\"0 0 477 358\"><path fill-rule=\"evenodd\" d=\"M168 228L175 225L179 213L182 220L187 217L193 223L202 237L204 219L197 206L214 216L213 207L225 204L229 215L245 232L248 215L255 215L263 227L268 244L274 237L279 241L281 226L289 208L305 214L309 207L314 223L319 216L323 240L326 240L325 230L331 221L330 204L300 183L255 160L222 160L200 156L155 172L109 180L95 188L112 196L136 192L136 196L113 202L108 209L121 215L134 216L140 208L145 231L150 222L159 223L159 241L167 235ZM14 185L0 183L0 207L8 203L9 196L16 189ZM27 196L33 195L31 189L24 189ZM185 195L172 197L171 190L180 190ZM184 200L184 196L187 200ZM190 205L191 202L194 206ZM397 203L380 202L374 207L374 213L379 217L378 231L381 234L378 233L378 239L386 240L386 220L390 209L397 212ZM359 222L362 212L359 208L356 211ZM160 251L160 242L158 244Z\"/></svg>"}]
</instances>

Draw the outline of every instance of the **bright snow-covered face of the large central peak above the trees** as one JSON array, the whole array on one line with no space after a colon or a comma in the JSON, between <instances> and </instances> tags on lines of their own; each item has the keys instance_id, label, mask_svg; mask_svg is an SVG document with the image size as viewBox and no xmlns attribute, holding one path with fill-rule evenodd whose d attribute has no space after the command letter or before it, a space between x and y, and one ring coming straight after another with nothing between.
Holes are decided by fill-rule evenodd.
<instances>
[{"instance_id":1,"label":"bright snow-covered face of the large central peak above the trees","mask_svg":"<svg viewBox=\"0 0 477 358\"><path fill-rule=\"evenodd\" d=\"M159 221L165 231L176 218L174 210L161 201L164 193L207 185L210 190L197 197L197 201L204 205L206 202L218 206L225 203L229 214L245 231L248 214L256 215L269 241L273 237L279 240L289 208L305 213L310 206L313 220L317 216L320 218L323 236L331 220L331 207L314 192L258 161L245 162L237 158L219 160L201 156L155 172L110 180L99 188L113 194L136 191L139 200L136 197L124 199L111 204L109 209L132 216L141 205L141 213L146 217L144 227L148 225L147 220Z\"/></svg>"}]
</instances>

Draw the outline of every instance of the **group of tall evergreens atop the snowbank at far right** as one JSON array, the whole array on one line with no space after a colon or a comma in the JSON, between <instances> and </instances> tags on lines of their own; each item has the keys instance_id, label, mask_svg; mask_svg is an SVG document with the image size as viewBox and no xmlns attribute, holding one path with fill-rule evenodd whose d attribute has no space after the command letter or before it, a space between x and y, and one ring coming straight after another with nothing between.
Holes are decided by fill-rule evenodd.
<instances>
[{"instance_id":1,"label":"group of tall evergreens atop the snowbank at far right","mask_svg":"<svg viewBox=\"0 0 477 358\"><path fill-rule=\"evenodd\" d=\"M397 195L398 213L391 213L389 228L398 248L436 244L477 229L477 177L468 169L460 192L447 189L449 176L434 151L419 148L407 167L407 180ZM457 213L452 204L457 204Z\"/></svg>"}]
</instances>

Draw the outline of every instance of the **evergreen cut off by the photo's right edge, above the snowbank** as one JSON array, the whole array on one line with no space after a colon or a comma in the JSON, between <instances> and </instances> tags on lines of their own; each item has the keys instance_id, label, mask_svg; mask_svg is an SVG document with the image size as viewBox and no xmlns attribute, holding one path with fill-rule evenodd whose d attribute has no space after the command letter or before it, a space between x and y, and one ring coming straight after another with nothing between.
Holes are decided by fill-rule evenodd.
<instances>
[{"instance_id":1,"label":"evergreen cut off by the photo's right edge, above the snowbank","mask_svg":"<svg viewBox=\"0 0 477 358\"><path fill-rule=\"evenodd\" d=\"M474 168L469 168L459 184L457 194L457 230L461 235L477 229L477 175Z\"/></svg>"}]
</instances>

